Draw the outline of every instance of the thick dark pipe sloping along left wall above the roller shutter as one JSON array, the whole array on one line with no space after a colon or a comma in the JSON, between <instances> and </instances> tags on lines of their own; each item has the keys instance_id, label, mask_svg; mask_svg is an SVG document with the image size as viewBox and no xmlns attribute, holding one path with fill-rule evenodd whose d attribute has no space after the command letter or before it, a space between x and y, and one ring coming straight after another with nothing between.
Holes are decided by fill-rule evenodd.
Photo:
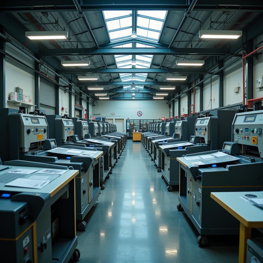
<instances>
[{"instance_id":1,"label":"thick dark pipe sloping along left wall above the roller shutter","mask_svg":"<svg viewBox=\"0 0 263 263\"><path fill-rule=\"evenodd\" d=\"M24 49L23 47L21 47L20 45L18 45L17 43L15 43L14 41L12 41L10 38L8 38L6 35L0 33L0 37L3 38L6 42L10 43L11 45L13 45L14 47L16 47L17 49L19 49L20 51L22 51L24 54L28 55L28 57L34 59L36 62L40 63L44 68L48 69L50 72L52 72L53 74L55 74L56 76L58 76L59 78L63 79L66 83L68 83L69 85L71 85L72 87L74 87L75 89L77 89L79 92L82 92L77 86L75 86L74 84L72 84L71 82L69 82L66 78L64 78L62 75L58 74L57 72L55 72L55 70L53 70L52 68L50 68L49 66L43 64L42 61L40 61L38 58L36 58L33 54L31 54L30 52L28 52L26 49ZM96 102L92 97L90 97L89 95L86 94L86 96L90 99L92 99L94 102ZM97 103L97 102L96 102Z\"/></svg>"}]
</instances>

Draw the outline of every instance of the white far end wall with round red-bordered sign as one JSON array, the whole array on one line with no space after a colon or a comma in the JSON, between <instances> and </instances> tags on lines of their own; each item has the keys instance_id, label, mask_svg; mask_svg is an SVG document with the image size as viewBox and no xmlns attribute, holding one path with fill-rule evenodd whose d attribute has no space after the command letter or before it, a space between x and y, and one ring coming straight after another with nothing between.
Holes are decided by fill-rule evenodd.
<instances>
[{"instance_id":1,"label":"white far end wall with round red-bordered sign","mask_svg":"<svg viewBox=\"0 0 263 263\"><path fill-rule=\"evenodd\" d=\"M169 117L169 107L166 100L109 100L98 101L93 106L93 116L102 116L116 119L159 119ZM137 112L143 115L139 117ZM111 115L114 112L115 115ZM100 114L100 115L99 115Z\"/></svg>"}]
</instances>

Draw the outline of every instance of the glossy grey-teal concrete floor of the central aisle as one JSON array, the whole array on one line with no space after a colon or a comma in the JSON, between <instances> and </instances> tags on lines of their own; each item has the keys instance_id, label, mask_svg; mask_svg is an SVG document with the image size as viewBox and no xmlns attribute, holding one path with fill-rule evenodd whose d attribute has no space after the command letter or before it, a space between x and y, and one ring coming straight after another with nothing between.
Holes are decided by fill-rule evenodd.
<instances>
[{"instance_id":1,"label":"glossy grey-teal concrete floor of the central aisle","mask_svg":"<svg viewBox=\"0 0 263 263\"><path fill-rule=\"evenodd\" d=\"M176 209L178 188L166 188L143 145L128 140L87 229L77 231L78 262L238 262L238 236L209 236L199 247L198 232Z\"/></svg>"}]
</instances>

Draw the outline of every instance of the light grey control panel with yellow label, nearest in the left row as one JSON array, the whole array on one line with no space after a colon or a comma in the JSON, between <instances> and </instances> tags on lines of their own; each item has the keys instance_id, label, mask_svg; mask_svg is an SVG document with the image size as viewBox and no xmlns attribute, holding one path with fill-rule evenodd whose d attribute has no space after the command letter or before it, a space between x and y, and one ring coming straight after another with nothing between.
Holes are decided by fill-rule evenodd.
<instances>
[{"instance_id":1,"label":"light grey control panel with yellow label, nearest in the left row","mask_svg":"<svg viewBox=\"0 0 263 263\"><path fill-rule=\"evenodd\" d=\"M48 139L48 124L45 116L19 113L19 147L29 151L30 144Z\"/></svg>"}]
</instances>

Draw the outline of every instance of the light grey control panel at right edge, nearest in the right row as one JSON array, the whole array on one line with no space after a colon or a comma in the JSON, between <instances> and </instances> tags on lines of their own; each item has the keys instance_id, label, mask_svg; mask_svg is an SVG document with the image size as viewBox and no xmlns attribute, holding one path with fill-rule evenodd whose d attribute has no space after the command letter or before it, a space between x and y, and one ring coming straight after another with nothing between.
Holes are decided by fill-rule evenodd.
<instances>
[{"instance_id":1,"label":"light grey control panel at right edge, nearest in the right row","mask_svg":"<svg viewBox=\"0 0 263 263\"><path fill-rule=\"evenodd\" d=\"M262 129L263 110L236 113L232 124L232 140L245 146L243 153L250 151L251 146L255 146L250 155L258 151L258 155L263 158Z\"/></svg>"}]
</instances>

